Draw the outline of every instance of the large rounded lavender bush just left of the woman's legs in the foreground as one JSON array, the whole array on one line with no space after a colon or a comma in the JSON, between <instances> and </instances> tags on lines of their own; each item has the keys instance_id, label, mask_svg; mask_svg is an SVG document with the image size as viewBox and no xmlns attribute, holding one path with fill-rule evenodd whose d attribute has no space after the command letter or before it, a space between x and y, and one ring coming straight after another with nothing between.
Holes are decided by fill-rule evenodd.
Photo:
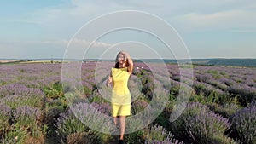
<instances>
[{"instance_id":1,"label":"large rounded lavender bush just left of the woman's legs in the foreground","mask_svg":"<svg viewBox=\"0 0 256 144\"><path fill-rule=\"evenodd\" d=\"M97 104L91 104L95 107L100 107L102 110L102 106ZM67 109L66 112L62 112L60 117L57 118L57 134L61 136L62 140L65 141L67 135L76 133L76 132L87 132L87 136L89 138L100 138L102 133L100 132L110 133L110 130L113 129L113 123L108 119L109 117L105 114L102 116L97 108L90 107L88 103L78 103ZM106 105L106 107L108 107ZM90 130L92 129L92 130ZM96 136L95 136L96 135Z\"/></svg>"}]
</instances>

